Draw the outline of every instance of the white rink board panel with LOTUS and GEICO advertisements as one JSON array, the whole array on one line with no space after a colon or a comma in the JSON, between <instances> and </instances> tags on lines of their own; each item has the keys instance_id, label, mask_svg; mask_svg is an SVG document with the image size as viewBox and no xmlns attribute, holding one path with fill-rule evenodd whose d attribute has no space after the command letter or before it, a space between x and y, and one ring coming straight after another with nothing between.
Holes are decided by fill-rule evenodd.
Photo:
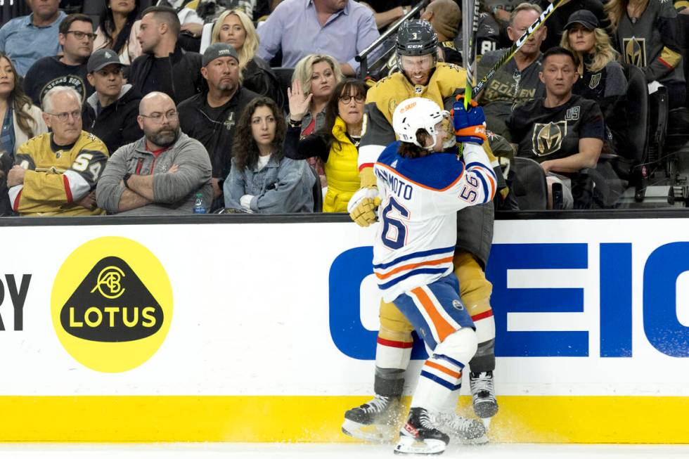
<instances>
[{"instance_id":1,"label":"white rink board panel with LOTUS and GEICO advertisements","mask_svg":"<svg viewBox=\"0 0 689 459\"><path fill-rule=\"evenodd\" d=\"M498 394L689 395L687 224L496 222ZM375 229L3 228L0 395L370 394Z\"/></svg>"}]
</instances>

